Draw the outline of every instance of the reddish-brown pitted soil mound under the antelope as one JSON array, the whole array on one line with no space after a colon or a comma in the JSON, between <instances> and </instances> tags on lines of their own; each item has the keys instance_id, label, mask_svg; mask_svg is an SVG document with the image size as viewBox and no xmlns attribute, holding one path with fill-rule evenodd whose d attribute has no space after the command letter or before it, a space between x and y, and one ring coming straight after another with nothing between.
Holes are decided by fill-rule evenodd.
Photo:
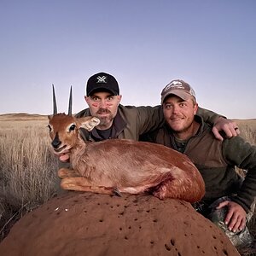
<instances>
[{"instance_id":1,"label":"reddish-brown pitted soil mound under the antelope","mask_svg":"<svg viewBox=\"0 0 256 256\"><path fill-rule=\"evenodd\" d=\"M69 192L26 214L0 255L238 256L229 239L184 201Z\"/></svg>"}]
</instances>

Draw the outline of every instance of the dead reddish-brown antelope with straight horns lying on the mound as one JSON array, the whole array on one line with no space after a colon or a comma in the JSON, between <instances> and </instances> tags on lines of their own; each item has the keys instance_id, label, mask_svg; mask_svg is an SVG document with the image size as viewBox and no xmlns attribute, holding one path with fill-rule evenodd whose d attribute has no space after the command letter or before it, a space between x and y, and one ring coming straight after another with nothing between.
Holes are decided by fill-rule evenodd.
<instances>
[{"instance_id":1,"label":"dead reddish-brown antelope with straight horns lying on the mound","mask_svg":"<svg viewBox=\"0 0 256 256\"><path fill-rule=\"evenodd\" d=\"M160 200L176 198L191 203L205 194L200 172L185 154L166 146L128 139L89 142L80 128L91 131L99 125L96 117L72 115L72 88L68 114L49 116L49 137L56 156L68 154L73 169L61 168L61 188L108 195L150 193Z\"/></svg>"}]
</instances>

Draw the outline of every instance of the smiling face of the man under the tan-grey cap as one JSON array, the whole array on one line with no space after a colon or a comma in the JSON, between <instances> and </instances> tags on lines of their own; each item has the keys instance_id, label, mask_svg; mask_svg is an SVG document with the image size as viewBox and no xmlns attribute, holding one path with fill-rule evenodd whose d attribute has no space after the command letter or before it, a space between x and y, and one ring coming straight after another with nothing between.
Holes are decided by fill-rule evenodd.
<instances>
[{"instance_id":1,"label":"smiling face of the man under the tan-grey cap","mask_svg":"<svg viewBox=\"0 0 256 256\"><path fill-rule=\"evenodd\" d=\"M188 132L197 108L198 105L193 102L192 96L189 100L184 101L178 96L171 95L163 103L166 123L174 132Z\"/></svg>"}]
</instances>

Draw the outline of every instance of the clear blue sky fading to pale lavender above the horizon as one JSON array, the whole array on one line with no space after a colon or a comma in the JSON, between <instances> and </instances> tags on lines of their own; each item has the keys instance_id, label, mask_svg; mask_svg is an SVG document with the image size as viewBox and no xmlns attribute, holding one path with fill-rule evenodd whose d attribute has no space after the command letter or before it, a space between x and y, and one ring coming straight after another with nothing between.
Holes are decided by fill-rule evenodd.
<instances>
[{"instance_id":1,"label":"clear blue sky fading to pale lavender above the horizon","mask_svg":"<svg viewBox=\"0 0 256 256\"><path fill-rule=\"evenodd\" d=\"M87 79L107 72L124 105L157 105L172 79L202 108L256 118L254 0L0 0L0 113L86 107Z\"/></svg>"}]
</instances>

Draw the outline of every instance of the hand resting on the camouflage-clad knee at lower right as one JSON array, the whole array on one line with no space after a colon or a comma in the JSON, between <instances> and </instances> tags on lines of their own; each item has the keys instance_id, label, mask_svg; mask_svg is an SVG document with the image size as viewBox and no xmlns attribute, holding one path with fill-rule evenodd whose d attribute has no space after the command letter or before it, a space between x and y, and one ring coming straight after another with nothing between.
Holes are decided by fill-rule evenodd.
<instances>
[{"instance_id":1,"label":"hand resting on the camouflage-clad knee at lower right","mask_svg":"<svg viewBox=\"0 0 256 256\"><path fill-rule=\"evenodd\" d=\"M230 231L236 232L245 228L247 212L235 201L223 201L219 203L217 209L228 207L228 213L224 220Z\"/></svg>"}]
</instances>

